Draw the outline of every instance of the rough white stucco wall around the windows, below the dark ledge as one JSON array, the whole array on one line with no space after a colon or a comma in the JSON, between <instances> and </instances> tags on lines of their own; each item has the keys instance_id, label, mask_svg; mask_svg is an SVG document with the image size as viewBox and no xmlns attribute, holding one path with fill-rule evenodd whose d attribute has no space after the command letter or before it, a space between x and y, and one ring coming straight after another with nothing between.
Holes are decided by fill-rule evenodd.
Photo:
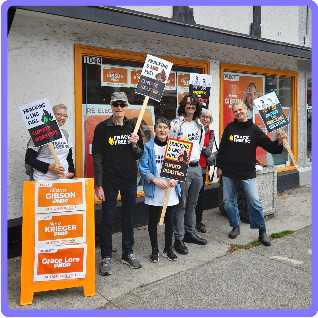
<instances>
[{"instance_id":1,"label":"rough white stucco wall around the windows, below the dark ledge","mask_svg":"<svg viewBox=\"0 0 318 318\"><path fill-rule=\"evenodd\" d=\"M80 24L80 25L79 25ZM297 59L140 30L17 10L8 36L8 219L22 216L28 132L18 106L48 97L63 103L75 154L74 44L210 61L211 128L219 140L220 62L297 71ZM74 156L73 156L74 158ZM76 162L75 162L76 164Z\"/></svg>"}]
</instances>

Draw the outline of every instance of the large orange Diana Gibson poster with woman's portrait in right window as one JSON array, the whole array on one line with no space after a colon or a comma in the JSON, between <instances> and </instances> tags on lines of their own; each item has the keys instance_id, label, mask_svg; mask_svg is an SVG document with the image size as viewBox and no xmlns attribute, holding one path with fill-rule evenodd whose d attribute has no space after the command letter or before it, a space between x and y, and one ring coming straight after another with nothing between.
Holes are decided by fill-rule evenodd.
<instances>
[{"instance_id":1,"label":"large orange Diana Gibson poster with woman's portrait in right window","mask_svg":"<svg viewBox=\"0 0 318 318\"><path fill-rule=\"evenodd\" d=\"M234 120L234 115L232 114L231 108L232 104L236 101L241 101L243 103L248 103L247 88L251 83L256 84L257 97L264 95L264 85L265 76L254 75L254 74L240 74L240 73L230 73L224 72L223 75L223 129L226 125ZM254 86L253 86L254 87ZM250 89L249 89L250 91ZM259 96L258 96L259 95ZM246 101L245 101L246 97ZM253 109L252 98L250 100L249 108ZM249 110L249 118L253 118L253 111Z\"/></svg>"}]
</instances>

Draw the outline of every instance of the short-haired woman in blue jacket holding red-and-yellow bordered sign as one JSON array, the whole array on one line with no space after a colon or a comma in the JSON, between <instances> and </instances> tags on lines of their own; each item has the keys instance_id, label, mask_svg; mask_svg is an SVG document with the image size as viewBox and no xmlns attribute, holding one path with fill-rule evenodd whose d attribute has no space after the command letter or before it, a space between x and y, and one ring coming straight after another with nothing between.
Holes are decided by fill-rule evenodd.
<instances>
[{"instance_id":1,"label":"short-haired woman in blue jacket holding red-and-yellow bordered sign","mask_svg":"<svg viewBox=\"0 0 318 318\"><path fill-rule=\"evenodd\" d=\"M177 260L173 253L172 235L173 235L173 216L175 205L179 203L180 185L176 180L169 183L169 179L160 177L163 157L167 146L168 135L170 132L170 123L164 117L157 119L155 126L155 137L151 138L145 144L144 153L139 159L139 173L144 178L143 191L146 195L145 204L149 209L148 232L151 241L151 256L152 262L159 261L158 239L157 239L157 223L160 213L160 207L166 196L168 186L171 189L166 214L164 217L164 250L162 256L169 260Z\"/></svg>"}]
</instances>

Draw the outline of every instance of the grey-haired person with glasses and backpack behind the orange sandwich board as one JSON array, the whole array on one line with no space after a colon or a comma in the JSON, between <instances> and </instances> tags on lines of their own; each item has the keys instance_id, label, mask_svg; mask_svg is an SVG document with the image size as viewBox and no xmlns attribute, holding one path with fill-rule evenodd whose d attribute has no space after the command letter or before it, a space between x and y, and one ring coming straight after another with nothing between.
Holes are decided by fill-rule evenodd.
<instances>
[{"instance_id":1,"label":"grey-haired person with glasses and backpack behind the orange sandwich board","mask_svg":"<svg viewBox=\"0 0 318 318\"><path fill-rule=\"evenodd\" d=\"M52 110L59 127L63 126L68 117L66 106L63 104L55 105ZM32 180L61 179L61 173L64 173L67 179L75 176L71 138L66 130L60 130L63 138L52 142L60 164L55 164L51 150L46 145L35 148L32 140L30 141L25 155L25 163L33 168Z\"/></svg>"}]
</instances>

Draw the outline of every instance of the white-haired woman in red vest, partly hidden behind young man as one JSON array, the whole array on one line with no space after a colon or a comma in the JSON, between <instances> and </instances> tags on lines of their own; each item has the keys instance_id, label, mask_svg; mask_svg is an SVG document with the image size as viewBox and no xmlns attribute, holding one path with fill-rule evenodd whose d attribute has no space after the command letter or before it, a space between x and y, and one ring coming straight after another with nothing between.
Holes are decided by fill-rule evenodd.
<instances>
[{"instance_id":1,"label":"white-haired woman in red vest, partly hidden behind young man","mask_svg":"<svg viewBox=\"0 0 318 318\"><path fill-rule=\"evenodd\" d=\"M197 207L196 207L196 228L201 232L205 233L206 228L205 225L202 223L202 214L203 214L203 193L204 193L204 183L206 180L206 157L210 156L213 149L213 142L214 142L214 131L210 130L209 125L211 125L213 121L212 112L209 109L202 108L201 115L200 115L200 121L203 124L204 127L204 144L203 148L200 154L200 166L201 166L201 172L202 172L202 178L203 178L203 184L201 187L201 190L199 192L199 197L197 201Z\"/></svg>"}]
</instances>

